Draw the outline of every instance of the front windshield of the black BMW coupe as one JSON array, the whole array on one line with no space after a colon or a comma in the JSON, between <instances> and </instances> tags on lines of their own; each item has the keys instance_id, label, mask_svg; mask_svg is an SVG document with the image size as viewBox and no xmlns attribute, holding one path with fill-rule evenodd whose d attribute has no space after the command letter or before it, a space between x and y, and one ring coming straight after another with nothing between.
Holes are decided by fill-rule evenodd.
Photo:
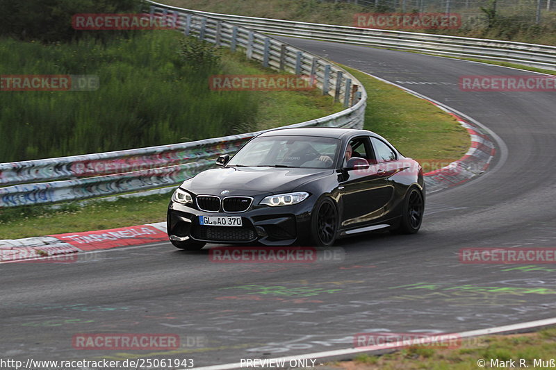
<instances>
[{"instance_id":1,"label":"front windshield of the black BMW coupe","mask_svg":"<svg viewBox=\"0 0 556 370\"><path fill-rule=\"evenodd\" d=\"M229 166L332 168L340 140L316 136L266 136L248 142Z\"/></svg>"}]
</instances>

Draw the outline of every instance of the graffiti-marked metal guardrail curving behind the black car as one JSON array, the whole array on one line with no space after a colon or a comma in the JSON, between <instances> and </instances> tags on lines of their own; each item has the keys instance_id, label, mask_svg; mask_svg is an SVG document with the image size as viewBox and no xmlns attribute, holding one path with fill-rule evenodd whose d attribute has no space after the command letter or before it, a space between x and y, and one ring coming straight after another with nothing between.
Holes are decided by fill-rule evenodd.
<instances>
[{"instance_id":1,"label":"graffiti-marked metal guardrail curving behind the black car","mask_svg":"<svg viewBox=\"0 0 556 370\"><path fill-rule=\"evenodd\" d=\"M171 12L171 14L169 14ZM152 15L168 15L179 31L231 49L265 67L315 76L323 94L347 107L327 117L287 127L361 128L367 94L354 76L331 62L267 35L219 19L154 5ZM177 185L213 166L220 153L235 153L258 133L183 144L0 164L0 208L90 199Z\"/></svg>"}]
</instances>

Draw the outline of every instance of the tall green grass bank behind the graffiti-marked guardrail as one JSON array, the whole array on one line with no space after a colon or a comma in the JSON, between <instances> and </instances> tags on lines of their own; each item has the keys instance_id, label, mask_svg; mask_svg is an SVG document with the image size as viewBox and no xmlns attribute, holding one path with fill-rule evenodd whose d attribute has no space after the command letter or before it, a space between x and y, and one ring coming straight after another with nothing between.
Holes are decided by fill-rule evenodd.
<instances>
[{"instance_id":1,"label":"tall green grass bank behind the graffiti-marked guardrail","mask_svg":"<svg viewBox=\"0 0 556 370\"><path fill-rule=\"evenodd\" d=\"M342 109L318 92L211 91L212 74L276 72L224 49L216 52L220 62L199 67L180 55L182 39L175 31L71 44L0 39L2 74L88 74L100 81L91 92L0 92L0 162L201 140Z\"/></svg>"}]
</instances>

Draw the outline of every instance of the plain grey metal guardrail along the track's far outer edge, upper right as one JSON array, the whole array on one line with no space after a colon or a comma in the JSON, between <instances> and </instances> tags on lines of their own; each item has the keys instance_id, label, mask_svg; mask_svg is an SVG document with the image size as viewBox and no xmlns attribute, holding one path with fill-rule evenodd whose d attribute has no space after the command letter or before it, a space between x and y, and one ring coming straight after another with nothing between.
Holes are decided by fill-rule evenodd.
<instances>
[{"instance_id":1,"label":"plain grey metal guardrail along the track's far outer edge, upper right","mask_svg":"<svg viewBox=\"0 0 556 370\"><path fill-rule=\"evenodd\" d=\"M154 3L153 1L149 1ZM154 3L156 6L163 6ZM167 10L179 10L163 6ZM272 35L295 36L313 40L361 44L407 51L420 51L440 56L458 58L479 58L514 62L530 67L556 70L556 47L540 44L526 44L502 40L477 39L471 37L432 35L404 31L378 30L349 26L334 26L282 19L244 17L199 10L187 10L196 15L221 19L254 31Z\"/></svg>"}]
</instances>

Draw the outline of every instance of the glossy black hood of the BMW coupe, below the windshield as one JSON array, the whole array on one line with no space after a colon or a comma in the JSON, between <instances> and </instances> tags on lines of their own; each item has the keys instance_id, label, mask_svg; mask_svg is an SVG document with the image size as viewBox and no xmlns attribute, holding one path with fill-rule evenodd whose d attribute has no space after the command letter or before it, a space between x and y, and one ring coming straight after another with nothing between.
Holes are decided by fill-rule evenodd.
<instances>
[{"instance_id":1,"label":"glossy black hood of the BMW coupe, below the windshield","mask_svg":"<svg viewBox=\"0 0 556 370\"><path fill-rule=\"evenodd\" d=\"M182 187L194 194L220 195L224 190L228 190L227 196L279 194L333 173L320 168L222 167L203 171Z\"/></svg>"}]
</instances>

